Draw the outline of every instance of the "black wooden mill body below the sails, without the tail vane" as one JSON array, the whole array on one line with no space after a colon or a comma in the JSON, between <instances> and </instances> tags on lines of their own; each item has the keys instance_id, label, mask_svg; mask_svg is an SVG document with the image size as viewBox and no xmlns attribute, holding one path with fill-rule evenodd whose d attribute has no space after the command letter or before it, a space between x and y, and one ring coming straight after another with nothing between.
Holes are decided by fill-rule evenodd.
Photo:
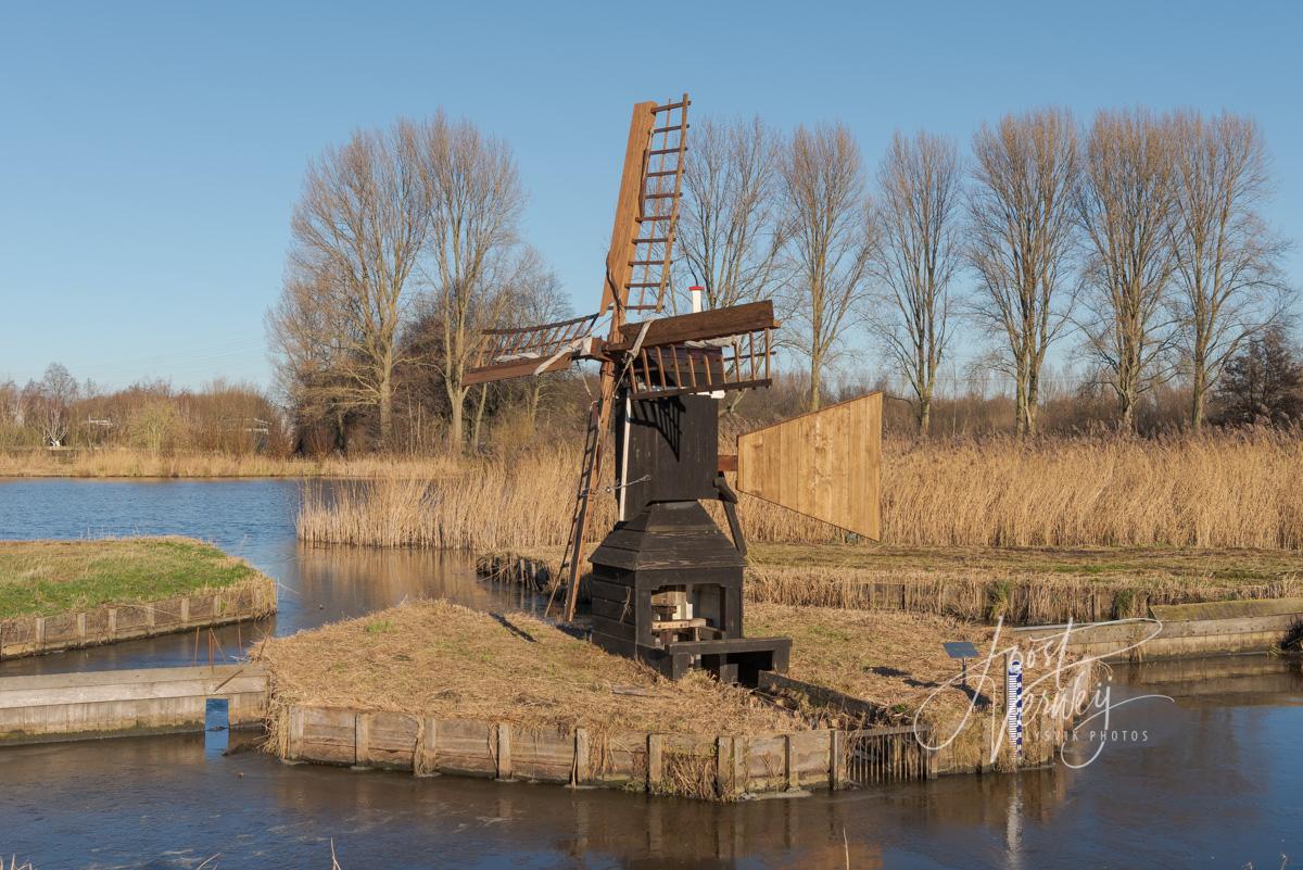
<instances>
[{"instance_id":1,"label":"black wooden mill body below the sails, without the tail vane","mask_svg":"<svg viewBox=\"0 0 1303 870\"><path fill-rule=\"evenodd\" d=\"M787 671L791 639L743 633L745 544L718 473L717 405L697 393L618 396L623 518L590 556L593 642L670 679L704 668L753 686L760 671ZM726 503L734 539L706 499Z\"/></svg>"}]
</instances>

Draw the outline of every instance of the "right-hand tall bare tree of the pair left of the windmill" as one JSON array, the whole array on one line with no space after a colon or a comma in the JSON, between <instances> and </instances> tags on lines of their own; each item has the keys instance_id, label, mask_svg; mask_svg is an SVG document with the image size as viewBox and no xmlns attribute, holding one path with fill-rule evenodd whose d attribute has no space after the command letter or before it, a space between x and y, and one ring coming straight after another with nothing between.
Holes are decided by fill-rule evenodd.
<instances>
[{"instance_id":1,"label":"right-hand tall bare tree of the pair left of the windmill","mask_svg":"<svg viewBox=\"0 0 1303 870\"><path fill-rule=\"evenodd\" d=\"M469 121L442 113L418 130L420 165L427 191L430 233L423 267L433 311L443 328L440 358L451 408L448 442L464 443L465 370L481 331L498 318L513 263L516 225L525 204L511 148Z\"/></svg>"}]
</instances>

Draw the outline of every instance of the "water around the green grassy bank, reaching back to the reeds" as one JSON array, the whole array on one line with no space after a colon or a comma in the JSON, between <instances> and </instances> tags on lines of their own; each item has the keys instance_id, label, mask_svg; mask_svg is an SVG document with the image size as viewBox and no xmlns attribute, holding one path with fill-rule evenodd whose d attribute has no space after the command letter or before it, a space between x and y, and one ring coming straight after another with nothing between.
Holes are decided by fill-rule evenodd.
<instances>
[{"instance_id":1,"label":"water around the green grassy bank, reaching back to the reeds","mask_svg":"<svg viewBox=\"0 0 1303 870\"><path fill-rule=\"evenodd\" d=\"M469 554L308 547L296 540L297 481L0 479L0 539L179 534L208 540L276 581L274 617L214 629L214 655L231 659L267 634L292 634L362 616L407 598L440 596L478 608L532 607L476 580ZM348 486L340 483L339 486ZM164 634L61 655L0 663L0 676L206 664L208 633Z\"/></svg>"}]
</instances>

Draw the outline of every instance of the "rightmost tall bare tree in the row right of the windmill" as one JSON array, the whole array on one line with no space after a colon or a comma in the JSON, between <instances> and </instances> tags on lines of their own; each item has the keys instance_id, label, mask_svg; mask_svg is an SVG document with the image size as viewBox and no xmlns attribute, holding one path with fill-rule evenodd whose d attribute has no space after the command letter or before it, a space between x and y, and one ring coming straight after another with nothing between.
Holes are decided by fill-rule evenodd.
<instances>
[{"instance_id":1,"label":"rightmost tall bare tree in the row right of the windmill","mask_svg":"<svg viewBox=\"0 0 1303 870\"><path fill-rule=\"evenodd\" d=\"M1267 227L1263 134L1248 117L1173 119L1178 175L1174 300L1190 365L1190 425L1204 422L1208 391L1246 339L1285 310L1280 259L1286 244Z\"/></svg>"}]
</instances>

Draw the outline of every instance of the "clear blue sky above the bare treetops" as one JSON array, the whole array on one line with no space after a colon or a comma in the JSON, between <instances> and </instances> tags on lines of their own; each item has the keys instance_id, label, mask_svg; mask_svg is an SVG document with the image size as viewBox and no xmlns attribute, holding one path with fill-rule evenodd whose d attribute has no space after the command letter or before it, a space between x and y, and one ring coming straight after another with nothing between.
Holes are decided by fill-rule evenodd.
<instances>
[{"instance_id":1,"label":"clear blue sky above the bare treetops","mask_svg":"<svg viewBox=\"0 0 1303 870\"><path fill-rule=\"evenodd\" d=\"M1261 121L1270 219L1303 242L1300 82L1300 3L0 0L0 378L266 384L305 163L440 105L511 142L525 234L588 310L638 99L840 119L870 164L896 128L967 145L1046 103L1229 108Z\"/></svg>"}]
</instances>

